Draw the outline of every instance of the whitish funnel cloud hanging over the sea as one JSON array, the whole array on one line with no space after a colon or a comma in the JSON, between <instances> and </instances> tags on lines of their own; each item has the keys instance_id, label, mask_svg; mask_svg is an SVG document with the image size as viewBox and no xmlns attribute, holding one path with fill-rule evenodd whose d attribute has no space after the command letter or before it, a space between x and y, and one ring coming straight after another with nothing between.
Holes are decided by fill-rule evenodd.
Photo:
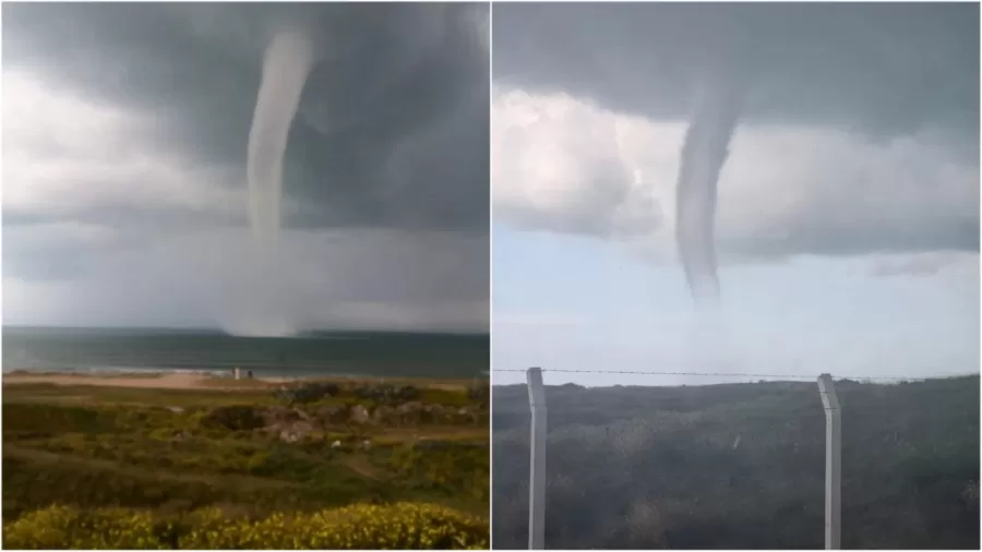
<instances>
[{"instance_id":1,"label":"whitish funnel cloud hanging over the sea","mask_svg":"<svg viewBox=\"0 0 982 552\"><path fill-rule=\"evenodd\" d=\"M273 35L263 60L252 128L249 131L249 221L262 243L279 235L283 199L283 159L290 124L314 62L313 40L303 29L287 28Z\"/></svg>"}]
</instances>

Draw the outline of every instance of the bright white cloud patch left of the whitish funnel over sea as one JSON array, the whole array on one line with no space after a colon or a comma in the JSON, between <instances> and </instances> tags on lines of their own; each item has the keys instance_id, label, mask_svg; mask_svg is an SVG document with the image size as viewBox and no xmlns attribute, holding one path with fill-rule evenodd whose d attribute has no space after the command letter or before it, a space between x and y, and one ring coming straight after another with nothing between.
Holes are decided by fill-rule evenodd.
<instances>
[{"instance_id":1,"label":"bright white cloud patch left of the whitish funnel over sea","mask_svg":"<svg viewBox=\"0 0 982 552\"><path fill-rule=\"evenodd\" d=\"M4 209L68 216L106 206L240 213L236 175L164 149L157 116L101 105L3 71Z\"/></svg>"}]
</instances>

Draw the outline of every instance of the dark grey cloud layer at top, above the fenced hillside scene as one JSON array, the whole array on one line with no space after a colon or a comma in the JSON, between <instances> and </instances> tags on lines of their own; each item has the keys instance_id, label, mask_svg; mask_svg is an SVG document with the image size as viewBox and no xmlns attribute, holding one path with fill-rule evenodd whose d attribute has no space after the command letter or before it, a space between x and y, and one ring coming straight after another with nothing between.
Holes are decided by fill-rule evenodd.
<instances>
[{"instance_id":1,"label":"dark grey cloud layer at top, above the fenced hillside scene","mask_svg":"<svg viewBox=\"0 0 982 552\"><path fill-rule=\"evenodd\" d=\"M744 121L937 128L978 157L975 3L506 3L493 33L495 82L687 120L727 71L751 87Z\"/></svg>"}]
</instances>

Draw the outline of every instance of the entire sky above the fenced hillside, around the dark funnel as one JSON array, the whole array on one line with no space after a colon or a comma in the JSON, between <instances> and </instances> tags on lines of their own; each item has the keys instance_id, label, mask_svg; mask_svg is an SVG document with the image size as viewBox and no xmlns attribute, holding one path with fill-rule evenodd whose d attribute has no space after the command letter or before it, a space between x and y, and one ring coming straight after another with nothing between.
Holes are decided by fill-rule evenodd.
<instances>
[{"instance_id":1,"label":"entire sky above the fenced hillside, around the dark funnel","mask_svg":"<svg viewBox=\"0 0 982 552\"><path fill-rule=\"evenodd\" d=\"M492 44L495 369L979 370L978 4L503 3ZM673 209L722 75L714 331Z\"/></svg>"}]
</instances>

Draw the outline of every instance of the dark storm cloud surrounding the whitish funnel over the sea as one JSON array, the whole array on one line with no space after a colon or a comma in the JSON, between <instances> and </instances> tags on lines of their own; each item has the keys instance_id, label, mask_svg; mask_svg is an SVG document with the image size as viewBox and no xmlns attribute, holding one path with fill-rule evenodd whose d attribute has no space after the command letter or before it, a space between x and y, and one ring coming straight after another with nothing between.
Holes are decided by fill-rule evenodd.
<instances>
[{"instance_id":1,"label":"dark storm cloud surrounding the whitish funnel over the sea","mask_svg":"<svg viewBox=\"0 0 982 552\"><path fill-rule=\"evenodd\" d=\"M264 48L277 25L301 23L312 29L321 61L287 148L285 193L304 208L285 217L286 226L483 230L483 11L481 4L4 4L3 63L93 100L155 113L152 142L200 166L231 169L244 189ZM244 213L226 218L211 223L242 224Z\"/></svg>"}]
</instances>

